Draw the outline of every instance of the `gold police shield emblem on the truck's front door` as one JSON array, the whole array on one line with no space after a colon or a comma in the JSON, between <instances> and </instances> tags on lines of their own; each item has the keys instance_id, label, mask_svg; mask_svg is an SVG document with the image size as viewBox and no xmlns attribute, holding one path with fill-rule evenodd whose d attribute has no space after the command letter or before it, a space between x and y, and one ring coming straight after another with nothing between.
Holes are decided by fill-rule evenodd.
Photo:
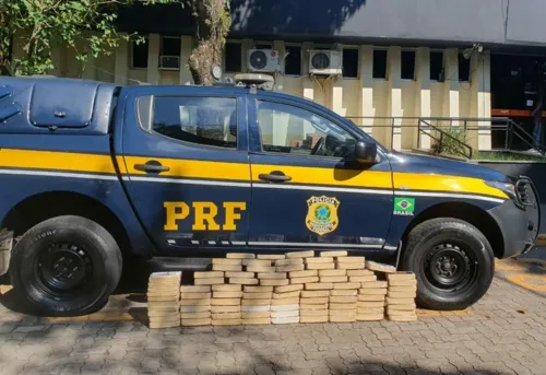
<instances>
[{"instance_id":1,"label":"gold police shield emblem on the truck's front door","mask_svg":"<svg viewBox=\"0 0 546 375\"><path fill-rule=\"evenodd\" d=\"M340 224L337 208L340 201L330 197L311 197L307 200L306 225L311 232L323 235L335 231Z\"/></svg>"}]
</instances>

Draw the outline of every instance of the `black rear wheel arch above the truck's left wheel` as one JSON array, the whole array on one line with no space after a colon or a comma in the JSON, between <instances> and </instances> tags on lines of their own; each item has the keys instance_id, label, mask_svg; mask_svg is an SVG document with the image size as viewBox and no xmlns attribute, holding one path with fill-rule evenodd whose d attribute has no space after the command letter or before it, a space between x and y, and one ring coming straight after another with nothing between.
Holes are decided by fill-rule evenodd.
<instances>
[{"instance_id":1,"label":"black rear wheel arch above the truck's left wheel","mask_svg":"<svg viewBox=\"0 0 546 375\"><path fill-rule=\"evenodd\" d=\"M130 255L129 235L119 218L99 200L80 192L47 191L29 196L8 212L0 227L12 230L16 238L45 220L68 214L95 221L114 236L123 256Z\"/></svg>"}]
</instances>

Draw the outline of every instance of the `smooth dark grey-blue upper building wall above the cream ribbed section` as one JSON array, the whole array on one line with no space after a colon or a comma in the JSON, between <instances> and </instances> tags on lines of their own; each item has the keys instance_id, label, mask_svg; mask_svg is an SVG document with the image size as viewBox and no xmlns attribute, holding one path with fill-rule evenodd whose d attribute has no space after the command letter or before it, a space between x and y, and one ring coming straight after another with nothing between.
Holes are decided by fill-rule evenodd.
<instances>
[{"instance_id":1,"label":"smooth dark grey-blue upper building wall above the cream ribbed section","mask_svg":"<svg viewBox=\"0 0 546 375\"><path fill-rule=\"evenodd\" d=\"M234 37L496 47L546 45L544 0L232 0ZM192 35L190 7L122 7L118 30Z\"/></svg>"}]
</instances>

